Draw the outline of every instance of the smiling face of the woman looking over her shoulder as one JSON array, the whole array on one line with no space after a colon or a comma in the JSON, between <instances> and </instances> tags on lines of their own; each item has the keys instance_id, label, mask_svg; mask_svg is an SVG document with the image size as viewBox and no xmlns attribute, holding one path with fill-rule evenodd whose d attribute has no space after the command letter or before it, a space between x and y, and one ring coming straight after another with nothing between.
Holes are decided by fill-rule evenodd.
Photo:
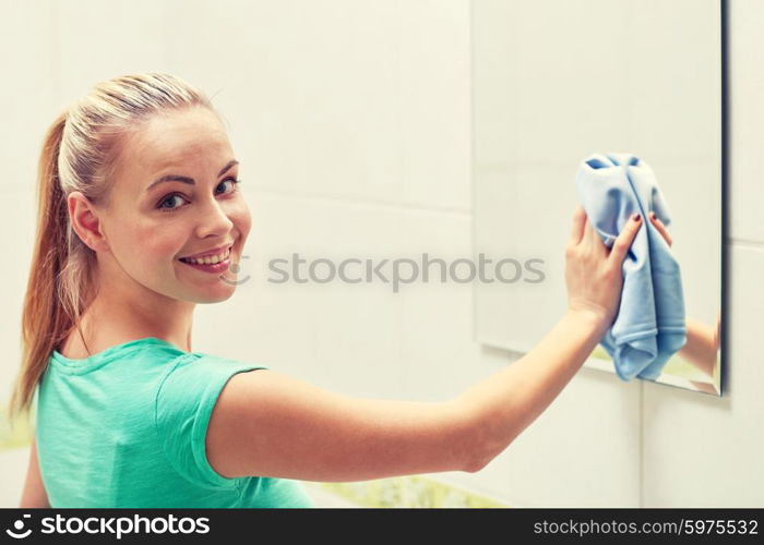
<instances>
[{"instance_id":1,"label":"smiling face of the woman looking over her shoulder","mask_svg":"<svg viewBox=\"0 0 764 545\"><path fill-rule=\"evenodd\" d=\"M208 109L143 122L123 142L107 208L98 214L108 245L98 254L102 278L194 303L228 299L251 226L238 170L225 128ZM230 252L222 270L180 259L211 252Z\"/></svg>"}]
</instances>

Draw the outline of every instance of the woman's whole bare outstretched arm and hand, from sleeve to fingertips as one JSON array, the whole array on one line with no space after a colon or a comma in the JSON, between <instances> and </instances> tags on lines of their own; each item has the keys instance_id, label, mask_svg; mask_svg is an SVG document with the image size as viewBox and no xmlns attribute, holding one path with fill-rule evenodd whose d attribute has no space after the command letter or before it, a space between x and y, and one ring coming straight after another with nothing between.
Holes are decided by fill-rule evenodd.
<instances>
[{"instance_id":1,"label":"woman's whole bare outstretched arm and hand, from sleeve to fingertips","mask_svg":"<svg viewBox=\"0 0 764 545\"><path fill-rule=\"evenodd\" d=\"M235 375L206 435L224 476L362 481L477 471L558 396L612 322L621 266L641 222L608 250L578 209L566 251L569 311L508 368L442 403L354 399L270 370Z\"/></svg>"}]
</instances>

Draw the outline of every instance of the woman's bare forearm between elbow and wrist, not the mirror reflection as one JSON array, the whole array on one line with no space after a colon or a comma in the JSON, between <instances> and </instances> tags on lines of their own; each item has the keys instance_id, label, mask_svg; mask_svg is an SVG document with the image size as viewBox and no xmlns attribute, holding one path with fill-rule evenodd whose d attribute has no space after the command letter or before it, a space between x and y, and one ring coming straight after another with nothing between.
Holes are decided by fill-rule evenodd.
<instances>
[{"instance_id":1,"label":"woman's bare forearm between elbow and wrist, not the mirror reflection","mask_svg":"<svg viewBox=\"0 0 764 545\"><path fill-rule=\"evenodd\" d=\"M569 312L534 350L457 398L471 415L485 463L549 407L606 330L594 316Z\"/></svg>"}]
</instances>

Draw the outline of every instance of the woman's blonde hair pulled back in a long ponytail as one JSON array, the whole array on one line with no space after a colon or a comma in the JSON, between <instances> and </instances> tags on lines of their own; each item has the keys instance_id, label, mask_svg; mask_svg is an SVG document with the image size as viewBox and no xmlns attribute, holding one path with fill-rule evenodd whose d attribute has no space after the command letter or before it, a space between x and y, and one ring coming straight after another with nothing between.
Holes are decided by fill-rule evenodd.
<instances>
[{"instance_id":1,"label":"woman's blonde hair pulled back in a long ponytail","mask_svg":"<svg viewBox=\"0 0 764 545\"><path fill-rule=\"evenodd\" d=\"M93 203L108 198L124 138L141 121L167 110L213 108L181 78L133 74L98 83L56 118L43 143L37 173L37 233L22 314L22 363L9 416L28 414L53 350L95 296L95 252L72 229L67 197L81 192ZM87 344L85 344L87 348ZM89 349L87 349L89 353Z\"/></svg>"}]
</instances>

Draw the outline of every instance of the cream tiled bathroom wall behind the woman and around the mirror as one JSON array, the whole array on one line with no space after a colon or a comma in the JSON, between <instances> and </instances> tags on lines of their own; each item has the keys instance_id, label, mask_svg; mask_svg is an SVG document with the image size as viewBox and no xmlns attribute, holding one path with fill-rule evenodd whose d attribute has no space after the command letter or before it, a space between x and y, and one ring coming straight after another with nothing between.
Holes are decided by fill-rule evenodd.
<instances>
[{"instance_id":1,"label":"cream tiled bathroom wall behind the woman and around the mirror","mask_svg":"<svg viewBox=\"0 0 764 545\"><path fill-rule=\"evenodd\" d=\"M268 259L293 252L309 261L471 255L467 0L0 5L10 75L0 88L0 197L13 203L0 228L16 257L0 286L0 400L17 365L43 134L93 83L131 71L174 72L214 95L242 162L251 279L231 300L198 308L195 350L348 395L422 401L453 397L516 358L473 341L469 284L394 293L380 282L267 281ZM728 397L584 368L484 471L430 477L514 506L764 505L755 342L764 190L753 182L764 146L764 5L733 0L730 12ZM0 505L17 501L26 450L0 450Z\"/></svg>"}]
</instances>

